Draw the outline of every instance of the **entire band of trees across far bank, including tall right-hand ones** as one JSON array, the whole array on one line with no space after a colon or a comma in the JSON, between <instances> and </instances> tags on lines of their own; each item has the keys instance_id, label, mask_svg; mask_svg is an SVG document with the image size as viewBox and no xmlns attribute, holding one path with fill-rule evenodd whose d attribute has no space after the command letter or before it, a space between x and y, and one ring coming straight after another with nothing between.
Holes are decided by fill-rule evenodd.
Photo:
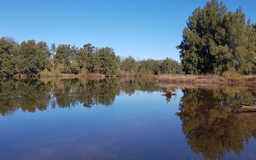
<instances>
[{"instance_id":1,"label":"entire band of trees across far bank, including tall right-hand ones","mask_svg":"<svg viewBox=\"0 0 256 160\"><path fill-rule=\"evenodd\" d=\"M95 48L85 44L55 43L35 40L17 43L9 37L0 39L0 76L100 73L106 76L124 73L142 74L256 74L256 24L246 21L242 8L228 11L225 3L207 1L196 8L183 30L177 46L180 63L164 60L116 56L113 48Z\"/></svg>"}]
</instances>

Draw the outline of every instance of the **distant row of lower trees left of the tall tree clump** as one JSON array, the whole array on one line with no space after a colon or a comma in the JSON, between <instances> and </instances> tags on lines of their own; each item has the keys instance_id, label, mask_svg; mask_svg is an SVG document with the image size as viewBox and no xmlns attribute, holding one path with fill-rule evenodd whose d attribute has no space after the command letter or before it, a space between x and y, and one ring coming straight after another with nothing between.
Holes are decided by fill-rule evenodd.
<instances>
[{"instance_id":1,"label":"distant row of lower trees left of the tall tree clump","mask_svg":"<svg viewBox=\"0 0 256 160\"><path fill-rule=\"evenodd\" d=\"M75 45L52 43L35 40L20 44L13 38L0 39L0 76L39 75L41 71L54 74L99 73L106 76L120 76L125 73L141 74L181 74L180 64L171 59L143 59L136 61L132 56L116 56L110 47L95 48L85 44L83 48Z\"/></svg>"}]
</instances>

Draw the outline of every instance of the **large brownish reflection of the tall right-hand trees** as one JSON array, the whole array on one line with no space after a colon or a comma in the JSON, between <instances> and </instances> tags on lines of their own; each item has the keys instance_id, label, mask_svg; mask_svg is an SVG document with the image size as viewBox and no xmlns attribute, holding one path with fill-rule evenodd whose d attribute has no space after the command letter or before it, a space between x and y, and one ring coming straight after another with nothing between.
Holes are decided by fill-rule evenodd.
<instances>
[{"instance_id":1,"label":"large brownish reflection of the tall right-hand trees","mask_svg":"<svg viewBox=\"0 0 256 160\"><path fill-rule=\"evenodd\" d=\"M256 90L238 88L183 89L179 112L188 145L205 159L222 159L226 152L237 155L244 141L256 138L256 120L233 113L238 101L253 103Z\"/></svg>"}]
</instances>

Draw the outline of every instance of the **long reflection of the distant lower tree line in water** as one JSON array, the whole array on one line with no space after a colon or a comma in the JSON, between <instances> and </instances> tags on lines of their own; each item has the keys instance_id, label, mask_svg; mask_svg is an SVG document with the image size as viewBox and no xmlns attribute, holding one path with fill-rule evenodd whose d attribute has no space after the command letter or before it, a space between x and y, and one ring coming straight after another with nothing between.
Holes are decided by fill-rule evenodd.
<instances>
[{"instance_id":1,"label":"long reflection of the distant lower tree line in water","mask_svg":"<svg viewBox=\"0 0 256 160\"><path fill-rule=\"evenodd\" d=\"M136 91L154 92L163 88L153 85L148 79L136 78L24 78L0 80L0 113L12 114L21 108L23 112L44 111L48 106L55 108L75 107L83 103L113 105L119 94L132 95Z\"/></svg>"}]
</instances>

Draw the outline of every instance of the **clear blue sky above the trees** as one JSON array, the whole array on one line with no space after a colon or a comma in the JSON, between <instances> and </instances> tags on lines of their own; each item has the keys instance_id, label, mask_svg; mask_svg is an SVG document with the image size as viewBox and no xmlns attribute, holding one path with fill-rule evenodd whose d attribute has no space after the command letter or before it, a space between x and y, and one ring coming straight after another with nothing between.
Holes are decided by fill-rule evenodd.
<instances>
[{"instance_id":1,"label":"clear blue sky above the trees","mask_svg":"<svg viewBox=\"0 0 256 160\"><path fill-rule=\"evenodd\" d=\"M49 45L113 47L116 55L179 60L175 48L193 10L206 0L64 1L0 0L0 35ZM256 22L256 1L226 0L228 10L241 5Z\"/></svg>"}]
</instances>

